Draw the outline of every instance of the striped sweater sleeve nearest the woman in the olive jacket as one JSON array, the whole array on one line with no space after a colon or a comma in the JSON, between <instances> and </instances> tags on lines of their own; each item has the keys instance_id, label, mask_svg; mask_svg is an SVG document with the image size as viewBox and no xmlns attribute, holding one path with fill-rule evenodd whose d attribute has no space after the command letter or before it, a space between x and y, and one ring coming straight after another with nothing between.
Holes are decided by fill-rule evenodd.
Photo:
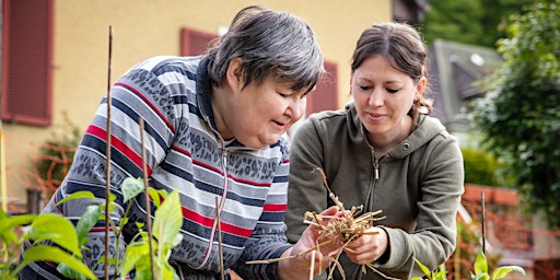
<instances>
[{"instance_id":1,"label":"striped sweater sleeve nearest the woman in the olive jacket","mask_svg":"<svg viewBox=\"0 0 560 280\"><path fill-rule=\"evenodd\" d=\"M292 245L285 238L283 222L287 206L290 142L282 138L282 159L265 201L262 214L245 244L240 260L233 267L243 279L278 279L278 262L246 265L248 260L279 258Z\"/></svg>"}]
</instances>

